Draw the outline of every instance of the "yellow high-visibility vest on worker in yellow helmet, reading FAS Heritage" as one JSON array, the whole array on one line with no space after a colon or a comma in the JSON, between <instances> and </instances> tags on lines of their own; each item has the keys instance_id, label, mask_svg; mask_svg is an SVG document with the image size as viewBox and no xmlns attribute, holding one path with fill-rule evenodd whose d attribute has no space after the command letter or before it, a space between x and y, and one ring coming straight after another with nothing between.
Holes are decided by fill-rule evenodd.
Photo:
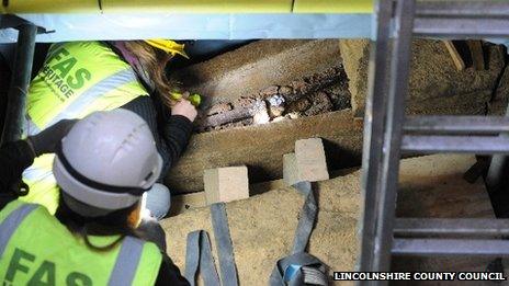
<instances>
[{"instance_id":1,"label":"yellow high-visibility vest on worker in yellow helmet, reading FAS Heritage","mask_svg":"<svg viewBox=\"0 0 509 286\"><path fill-rule=\"evenodd\" d=\"M31 82L27 95L27 135L65 118L82 118L110 111L148 92L133 68L100 42L52 45L46 61ZM52 172L54 155L36 158L23 172L30 193L21 197L55 214L58 192Z\"/></svg>"}]
</instances>

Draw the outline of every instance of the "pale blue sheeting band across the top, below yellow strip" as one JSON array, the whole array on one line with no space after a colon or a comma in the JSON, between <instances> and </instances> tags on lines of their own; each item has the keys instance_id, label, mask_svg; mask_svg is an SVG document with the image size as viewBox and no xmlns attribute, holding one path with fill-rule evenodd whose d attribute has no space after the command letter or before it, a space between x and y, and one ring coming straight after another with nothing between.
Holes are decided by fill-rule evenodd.
<instances>
[{"instance_id":1,"label":"pale blue sheeting band across the top, below yellow strip","mask_svg":"<svg viewBox=\"0 0 509 286\"><path fill-rule=\"evenodd\" d=\"M371 14L19 14L47 31L37 42L370 37ZM16 41L12 28L0 43Z\"/></svg>"}]
</instances>

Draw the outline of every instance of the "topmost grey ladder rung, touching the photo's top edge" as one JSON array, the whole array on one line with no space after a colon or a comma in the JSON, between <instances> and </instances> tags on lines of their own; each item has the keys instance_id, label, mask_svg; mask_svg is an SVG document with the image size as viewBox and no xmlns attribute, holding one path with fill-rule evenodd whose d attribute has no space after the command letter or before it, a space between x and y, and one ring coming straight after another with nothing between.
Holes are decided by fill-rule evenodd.
<instances>
[{"instance_id":1,"label":"topmost grey ladder rung, touching the photo's top edge","mask_svg":"<svg viewBox=\"0 0 509 286\"><path fill-rule=\"evenodd\" d=\"M506 1L417 1L416 16L449 18L507 18L509 4Z\"/></svg>"}]
</instances>

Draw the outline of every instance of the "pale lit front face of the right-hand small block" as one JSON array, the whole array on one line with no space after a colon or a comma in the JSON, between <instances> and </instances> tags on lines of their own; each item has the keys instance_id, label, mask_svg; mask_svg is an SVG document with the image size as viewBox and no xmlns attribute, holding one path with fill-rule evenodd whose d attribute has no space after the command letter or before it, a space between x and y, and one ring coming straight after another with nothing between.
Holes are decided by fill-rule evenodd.
<instances>
[{"instance_id":1,"label":"pale lit front face of the right-hand small block","mask_svg":"<svg viewBox=\"0 0 509 286\"><path fill-rule=\"evenodd\" d=\"M295 142L297 178L301 181L329 180L321 138L302 139Z\"/></svg>"}]
</instances>

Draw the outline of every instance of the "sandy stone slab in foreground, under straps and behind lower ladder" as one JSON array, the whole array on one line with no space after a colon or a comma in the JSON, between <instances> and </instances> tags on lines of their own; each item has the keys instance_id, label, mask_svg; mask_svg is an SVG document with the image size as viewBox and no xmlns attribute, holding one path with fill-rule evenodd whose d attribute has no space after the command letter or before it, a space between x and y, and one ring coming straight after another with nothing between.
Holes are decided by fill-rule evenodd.
<instances>
[{"instance_id":1,"label":"sandy stone slab in foreground, under straps and behind lower ladder","mask_svg":"<svg viewBox=\"0 0 509 286\"><path fill-rule=\"evenodd\" d=\"M474 162L474 157L461 155L403 160L398 216L493 217L484 185L479 181L470 184L462 179ZM352 271L359 243L355 233L361 207L360 172L319 182L316 187L319 213L310 238L309 253L323 260L331 271ZM267 285L275 261L291 250L302 204L303 197L286 187L227 204L241 285ZM162 226L167 233L169 254L181 271L184 268L188 232L205 229L215 252L207 207L165 219ZM409 271L422 270L422 266L439 271L446 265L468 271L483 267L486 263L486 260L478 259L425 262L396 259L394 265Z\"/></svg>"}]
</instances>

